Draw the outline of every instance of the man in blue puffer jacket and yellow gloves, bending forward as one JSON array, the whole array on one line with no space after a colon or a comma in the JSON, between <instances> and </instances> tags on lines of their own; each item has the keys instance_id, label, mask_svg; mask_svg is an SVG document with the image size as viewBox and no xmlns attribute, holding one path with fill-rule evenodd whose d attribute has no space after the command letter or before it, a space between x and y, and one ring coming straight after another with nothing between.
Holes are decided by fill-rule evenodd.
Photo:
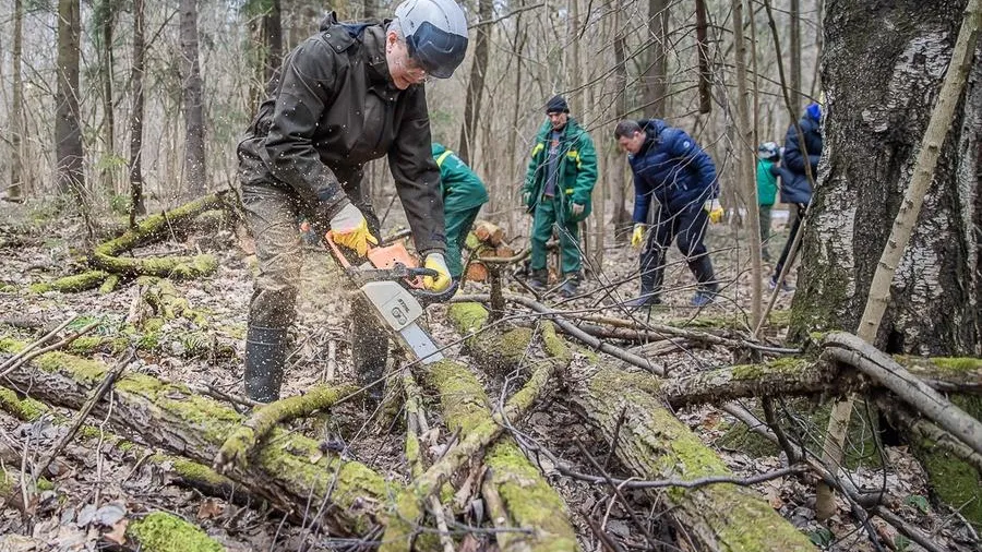
<instances>
[{"instance_id":1,"label":"man in blue puffer jacket and yellow gloves, bending forward","mask_svg":"<svg viewBox=\"0 0 982 552\"><path fill-rule=\"evenodd\" d=\"M719 184L712 159L685 131L669 127L660 119L621 121L614 129L614 137L628 154L634 172L631 244L636 248L645 241L640 254L640 296L627 304L647 307L661 302L664 253L676 237L679 251L699 283L692 304L703 307L712 302L719 285L703 237L706 224L718 223L723 215L717 199ZM661 208L644 240L652 199Z\"/></svg>"}]
</instances>

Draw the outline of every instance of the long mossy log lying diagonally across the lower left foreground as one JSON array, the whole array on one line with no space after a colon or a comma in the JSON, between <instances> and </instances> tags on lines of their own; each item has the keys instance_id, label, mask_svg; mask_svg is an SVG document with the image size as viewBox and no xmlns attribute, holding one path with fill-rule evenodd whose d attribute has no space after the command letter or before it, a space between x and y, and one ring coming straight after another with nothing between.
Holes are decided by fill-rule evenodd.
<instances>
[{"instance_id":1,"label":"long mossy log lying diagonally across the lower left foreground","mask_svg":"<svg viewBox=\"0 0 982 552\"><path fill-rule=\"evenodd\" d=\"M0 339L0 355L24 344ZM37 357L31 365L8 375L11 384L29 395L68 408L81 407L109 368L101 362L61 352ZM191 393L183 385L164 383L143 374L127 374L113 388L110 421L135 432L153 446L199 463L209 463L225 440L244 421L221 404ZM93 416L107 417L106 401ZM315 520L334 535L364 535L384 524L385 499L397 492L364 465L324 453L318 442L274 430L247 468L233 468L229 479L284 512L303 512L309 501L327 506Z\"/></svg>"}]
</instances>

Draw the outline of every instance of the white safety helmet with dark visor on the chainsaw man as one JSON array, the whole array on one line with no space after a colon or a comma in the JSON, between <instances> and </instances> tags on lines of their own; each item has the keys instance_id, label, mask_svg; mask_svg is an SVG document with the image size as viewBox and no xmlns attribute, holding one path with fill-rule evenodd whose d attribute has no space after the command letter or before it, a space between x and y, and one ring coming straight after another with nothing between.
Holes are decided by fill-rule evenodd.
<instances>
[{"instance_id":1,"label":"white safety helmet with dark visor on the chainsaw man","mask_svg":"<svg viewBox=\"0 0 982 552\"><path fill-rule=\"evenodd\" d=\"M454 0L405 0L395 11L409 56L427 74L450 79L467 53L467 20Z\"/></svg>"}]
</instances>

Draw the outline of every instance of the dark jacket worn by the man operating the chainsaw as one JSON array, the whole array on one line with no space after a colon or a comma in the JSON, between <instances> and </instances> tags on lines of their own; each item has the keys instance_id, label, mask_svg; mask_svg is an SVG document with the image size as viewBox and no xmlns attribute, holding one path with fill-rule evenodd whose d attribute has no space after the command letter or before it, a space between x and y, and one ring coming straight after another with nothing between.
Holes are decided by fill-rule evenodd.
<instances>
[{"instance_id":1,"label":"dark jacket worn by the man operating the chainsaw","mask_svg":"<svg viewBox=\"0 0 982 552\"><path fill-rule=\"evenodd\" d=\"M387 156L417 251L445 249L426 91L395 87L384 23L340 24L330 14L284 58L267 93L239 144L242 185L290 189L324 223L363 195L364 164Z\"/></svg>"}]
</instances>

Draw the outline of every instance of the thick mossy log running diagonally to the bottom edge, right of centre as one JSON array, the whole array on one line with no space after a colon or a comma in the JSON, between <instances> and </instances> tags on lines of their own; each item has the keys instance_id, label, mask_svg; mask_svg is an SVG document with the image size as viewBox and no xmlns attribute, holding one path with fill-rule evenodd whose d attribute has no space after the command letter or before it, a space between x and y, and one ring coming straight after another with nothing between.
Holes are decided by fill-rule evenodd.
<instances>
[{"instance_id":1,"label":"thick mossy log running diagonally to the bottom edge, right of centre","mask_svg":"<svg viewBox=\"0 0 982 552\"><path fill-rule=\"evenodd\" d=\"M573 400L604 436L616 439L618 458L644 479L727 476L719 456L624 371L600 364L577 379ZM614 437L615 428L620 428ZM811 541L759 495L735 484L670 488L659 495L669 516L699 548L723 551L815 550Z\"/></svg>"}]
</instances>

